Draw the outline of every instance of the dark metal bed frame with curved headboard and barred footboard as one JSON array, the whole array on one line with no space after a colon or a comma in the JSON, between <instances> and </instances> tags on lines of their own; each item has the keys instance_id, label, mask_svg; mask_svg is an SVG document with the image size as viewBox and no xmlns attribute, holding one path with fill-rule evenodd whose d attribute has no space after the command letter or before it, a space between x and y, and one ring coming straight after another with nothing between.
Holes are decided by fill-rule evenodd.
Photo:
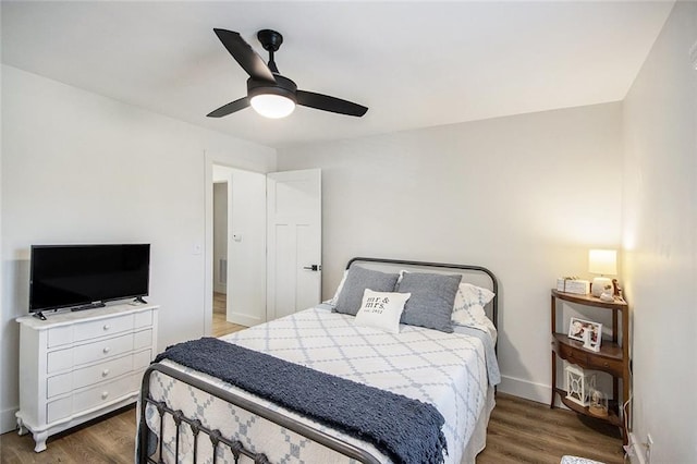
<instances>
[{"instance_id":1,"label":"dark metal bed frame with curved headboard and barred footboard","mask_svg":"<svg viewBox=\"0 0 697 464\"><path fill-rule=\"evenodd\" d=\"M491 279L492 291L496 294L491 305L491 321L494 327L498 328L498 282L497 278L489 269L484 268L481 266L469 266L469 265L454 265L454 264L442 264L442 262L427 262L427 261L413 261L413 260L400 260L400 259L382 259L382 258L367 258L367 257L356 257L351 259L346 269L351 268L354 262L375 262L375 264L386 264L386 265L402 265L402 266L412 266L412 267L424 267L424 268L440 268L440 269L455 269L461 271L475 271L487 274ZM212 463L217 462L217 448L218 447L227 447L233 454L235 463L239 463L242 456L246 456L254 461L256 464L270 464L270 461L264 453L254 453L250 450L244 448L243 443L239 440L232 440L230 438L223 437L220 430L211 430L205 426L203 426L201 422L198 418L186 417L181 410L173 410L168 406L164 402L156 401L150 398L150 377L154 373L161 373L168 377L174 378L181 382L187 383L200 391L204 391L212 396L219 398L230 404L233 404L237 407L246 410L252 414L256 414L259 417L262 417L271 423L278 424L297 435L301 435L309 440L313 440L323 447L327 447L331 450L337 451L340 454L343 454L346 457L356 460L357 462L365 464L378 464L380 461L375 457L369 452L359 449L358 447L347 443L346 441L340 440L335 437L332 437L328 434L325 434L314 427L310 427L306 424L303 424L292 417L280 414L269 407L262 406L260 404L254 403L236 393L231 391L223 390L219 387L216 387L211 383L208 383L199 378L193 377L188 374L185 374L181 370L174 369L170 366L162 364L152 364L150 365L143 376L143 382L140 388L140 399L139 399L139 425L138 425L138 434L137 434L137 443L136 443L136 460L140 464L160 464L164 463L163 460L163 429L164 429L164 417L170 415L176 428L176 442L174 450L174 460L179 462L179 449L180 449L180 430L182 427L188 427L191 432L194 436L194 460L193 464L196 464L197 451L199 445L206 444L199 443L199 436L203 434L208 437L208 445L212 449ZM158 432L152 435L150 432L148 425L146 423L146 407L148 404L154 405L158 414L160 416ZM150 437L157 438L157 445L155 451L149 454L148 453L148 443Z\"/></svg>"}]
</instances>

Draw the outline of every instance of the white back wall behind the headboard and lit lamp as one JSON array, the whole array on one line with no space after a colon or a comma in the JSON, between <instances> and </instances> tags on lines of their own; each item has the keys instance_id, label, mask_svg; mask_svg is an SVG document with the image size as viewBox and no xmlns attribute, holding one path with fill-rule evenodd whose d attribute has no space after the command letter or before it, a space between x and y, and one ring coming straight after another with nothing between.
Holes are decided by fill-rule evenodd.
<instances>
[{"instance_id":1,"label":"white back wall behind the headboard and lit lamp","mask_svg":"<svg viewBox=\"0 0 697 464\"><path fill-rule=\"evenodd\" d=\"M463 102L465 105L466 102ZM279 150L322 169L323 297L353 256L478 264L500 279L502 391L550 398L549 291L616 247L621 105Z\"/></svg>"}]
</instances>

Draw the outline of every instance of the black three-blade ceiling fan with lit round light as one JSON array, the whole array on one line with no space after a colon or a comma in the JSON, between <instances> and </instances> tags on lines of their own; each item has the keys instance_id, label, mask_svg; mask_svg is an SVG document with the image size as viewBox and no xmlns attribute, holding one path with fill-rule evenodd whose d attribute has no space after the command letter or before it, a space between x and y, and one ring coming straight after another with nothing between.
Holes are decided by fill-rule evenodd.
<instances>
[{"instance_id":1,"label":"black three-blade ceiling fan with lit round light","mask_svg":"<svg viewBox=\"0 0 697 464\"><path fill-rule=\"evenodd\" d=\"M273 53L283 44L283 36L276 30L262 29L257 33L261 46L269 52L268 65L239 33L225 29L213 32L232 58L249 74L249 78L246 97L211 111L207 114L209 118L221 118L248 106L267 118L284 118L293 112L295 105L353 117L362 117L368 111L362 105L341 98L298 90L293 81L282 76L273 61Z\"/></svg>"}]
</instances>

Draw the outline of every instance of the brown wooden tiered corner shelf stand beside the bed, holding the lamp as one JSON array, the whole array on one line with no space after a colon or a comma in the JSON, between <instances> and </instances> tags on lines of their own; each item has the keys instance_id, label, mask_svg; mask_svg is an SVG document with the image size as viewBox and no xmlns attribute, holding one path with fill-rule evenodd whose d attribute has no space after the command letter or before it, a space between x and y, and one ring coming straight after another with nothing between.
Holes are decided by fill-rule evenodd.
<instances>
[{"instance_id":1,"label":"brown wooden tiered corner shelf stand beside the bed, holding the lamp","mask_svg":"<svg viewBox=\"0 0 697 464\"><path fill-rule=\"evenodd\" d=\"M583 347L583 342L570 339L565 333L557 332L558 301L576 303L584 306L612 312L612 338L602 340L599 352ZM554 396L559 394L561 402L572 411L599 420L608 422L620 427L624 444L627 444L627 430L623 417L622 403L629 398L629 306L624 300L603 302L591 295L577 295L552 290L552 399L550 407L554 407ZM622 313L622 343L619 343L619 314ZM585 369L601 370L612 376L612 400L608 417L598 417L588 412L588 407L580 406L566 399L566 391L557 387L558 357ZM620 380L622 380L622 401L620 401ZM628 422L628 417L627 417Z\"/></svg>"}]
</instances>

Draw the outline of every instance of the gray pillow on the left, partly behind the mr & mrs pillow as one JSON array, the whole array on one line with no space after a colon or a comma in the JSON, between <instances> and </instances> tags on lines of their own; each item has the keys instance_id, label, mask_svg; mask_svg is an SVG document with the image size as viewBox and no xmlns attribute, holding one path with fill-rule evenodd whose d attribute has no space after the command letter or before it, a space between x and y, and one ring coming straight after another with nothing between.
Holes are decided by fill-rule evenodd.
<instances>
[{"instance_id":1,"label":"gray pillow on the left, partly behind the mr & mrs pillow","mask_svg":"<svg viewBox=\"0 0 697 464\"><path fill-rule=\"evenodd\" d=\"M337 313L355 316L360 309L363 294L366 289L374 292L393 292L399 273L384 273L371 269L352 266L346 276L344 286L342 286L337 298Z\"/></svg>"}]
</instances>

